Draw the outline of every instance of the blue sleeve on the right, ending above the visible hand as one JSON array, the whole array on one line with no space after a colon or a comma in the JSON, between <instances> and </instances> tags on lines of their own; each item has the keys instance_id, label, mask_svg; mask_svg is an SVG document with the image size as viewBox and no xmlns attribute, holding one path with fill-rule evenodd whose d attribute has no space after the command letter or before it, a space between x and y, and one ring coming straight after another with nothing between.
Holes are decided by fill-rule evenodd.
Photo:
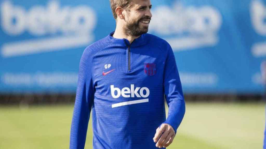
<instances>
[{"instance_id":1,"label":"blue sleeve on the right, ending above the visible hand","mask_svg":"<svg viewBox=\"0 0 266 149\"><path fill-rule=\"evenodd\" d=\"M176 133L185 115L185 101L174 53L169 44L168 48L164 69L164 94L169 111L164 123L171 125Z\"/></svg>"}]
</instances>

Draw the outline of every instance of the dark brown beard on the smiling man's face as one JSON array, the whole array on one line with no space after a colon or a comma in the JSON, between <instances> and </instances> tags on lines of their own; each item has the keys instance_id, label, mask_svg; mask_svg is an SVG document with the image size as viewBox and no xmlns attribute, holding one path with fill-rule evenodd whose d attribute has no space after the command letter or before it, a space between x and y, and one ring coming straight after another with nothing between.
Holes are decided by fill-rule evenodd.
<instances>
[{"instance_id":1,"label":"dark brown beard on the smiling man's face","mask_svg":"<svg viewBox=\"0 0 266 149\"><path fill-rule=\"evenodd\" d=\"M128 20L126 21L126 26L123 28L124 33L128 36L140 36L148 32L148 26L140 26L139 23L141 20L151 19L151 17L143 17L139 20Z\"/></svg>"}]
</instances>

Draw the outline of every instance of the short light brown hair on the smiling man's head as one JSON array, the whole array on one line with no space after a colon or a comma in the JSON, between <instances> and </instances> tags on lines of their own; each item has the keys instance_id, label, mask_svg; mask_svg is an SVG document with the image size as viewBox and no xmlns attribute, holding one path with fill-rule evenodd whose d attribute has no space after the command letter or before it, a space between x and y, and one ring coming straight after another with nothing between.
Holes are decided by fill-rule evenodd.
<instances>
[{"instance_id":1,"label":"short light brown hair on the smiling man's head","mask_svg":"<svg viewBox=\"0 0 266 149\"><path fill-rule=\"evenodd\" d=\"M113 12L113 16L117 19L117 14L115 9L117 7L122 7L123 9L128 9L132 5L132 0L110 0L111 9Z\"/></svg>"}]
</instances>

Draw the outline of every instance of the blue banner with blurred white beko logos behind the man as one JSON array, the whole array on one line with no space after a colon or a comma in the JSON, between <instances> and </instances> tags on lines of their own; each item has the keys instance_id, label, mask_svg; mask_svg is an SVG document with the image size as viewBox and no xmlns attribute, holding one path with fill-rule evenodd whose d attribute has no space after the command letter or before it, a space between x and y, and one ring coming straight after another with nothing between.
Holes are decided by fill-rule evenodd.
<instances>
[{"instance_id":1,"label":"blue banner with blurred white beko logos behind the man","mask_svg":"<svg viewBox=\"0 0 266 149\"><path fill-rule=\"evenodd\" d=\"M185 93L264 91L265 0L151 2L149 33L172 46ZM115 29L106 0L8 0L0 13L1 93L75 93L83 50Z\"/></svg>"}]
</instances>

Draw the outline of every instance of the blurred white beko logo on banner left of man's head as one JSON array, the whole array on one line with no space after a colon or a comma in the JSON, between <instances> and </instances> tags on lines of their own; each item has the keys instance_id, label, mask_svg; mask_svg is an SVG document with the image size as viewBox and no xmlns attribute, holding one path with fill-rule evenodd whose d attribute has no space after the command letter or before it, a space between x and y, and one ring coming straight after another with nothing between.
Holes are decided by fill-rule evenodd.
<instances>
[{"instance_id":1,"label":"blurred white beko logo on banner left of man's head","mask_svg":"<svg viewBox=\"0 0 266 149\"><path fill-rule=\"evenodd\" d=\"M50 1L46 8L33 6L26 11L22 6L4 1L1 3L3 32L16 37L28 31L35 38L5 43L1 54L3 57L22 56L88 45L94 40L95 25L96 14L88 6L60 8L59 2ZM45 37L40 39L41 36Z\"/></svg>"}]
</instances>

